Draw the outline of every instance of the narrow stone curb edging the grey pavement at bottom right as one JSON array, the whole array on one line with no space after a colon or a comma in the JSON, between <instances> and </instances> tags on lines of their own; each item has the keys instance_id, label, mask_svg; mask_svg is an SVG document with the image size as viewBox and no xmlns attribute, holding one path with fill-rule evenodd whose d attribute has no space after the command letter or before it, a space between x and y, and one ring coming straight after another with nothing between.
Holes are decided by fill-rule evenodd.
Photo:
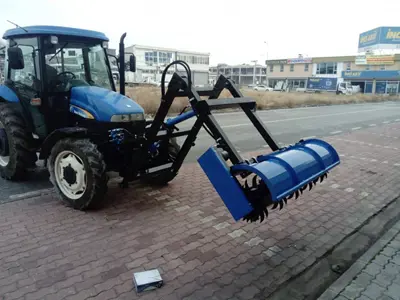
<instances>
[{"instance_id":1,"label":"narrow stone curb edging the grey pavement at bottom right","mask_svg":"<svg viewBox=\"0 0 400 300\"><path fill-rule=\"evenodd\" d=\"M372 259L400 232L400 221L344 272L317 300L335 299Z\"/></svg>"}]
</instances>

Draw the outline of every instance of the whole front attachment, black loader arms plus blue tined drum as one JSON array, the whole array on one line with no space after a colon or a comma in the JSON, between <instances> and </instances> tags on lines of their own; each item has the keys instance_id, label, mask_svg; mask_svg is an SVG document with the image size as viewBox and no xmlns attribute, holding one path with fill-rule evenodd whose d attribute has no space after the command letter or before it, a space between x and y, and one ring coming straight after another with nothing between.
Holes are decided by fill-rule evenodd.
<instances>
[{"instance_id":1,"label":"whole front attachment, black loader arms plus blue tined drum","mask_svg":"<svg viewBox=\"0 0 400 300\"><path fill-rule=\"evenodd\" d=\"M282 209L289 199L297 199L305 189L311 190L318 181L322 182L328 172L340 163L336 150L323 140L300 140L291 146L280 148L257 116L255 100L244 97L231 79L220 75L211 89L196 89L191 84L189 66L184 63L182 66L187 69L187 77L175 73L168 85L168 91L165 91L162 83L162 102L146 138L148 141L161 138L158 134L160 128L167 131L168 138L187 135L172 166L162 171L176 174L195 144L199 131L204 128L215 140L215 145L198 162L236 221L243 219L248 222L262 222L268 216L270 207ZM168 67L164 70L163 77ZM233 98L219 98L224 89ZM187 97L191 111L182 111L177 117L165 120L176 97ZM271 148L271 153L250 159L240 156L212 114L215 110L232 107L244 111ZM191 117L197 118L191 130L174 132L177 124Z\"/></svg>"}]
</instances>

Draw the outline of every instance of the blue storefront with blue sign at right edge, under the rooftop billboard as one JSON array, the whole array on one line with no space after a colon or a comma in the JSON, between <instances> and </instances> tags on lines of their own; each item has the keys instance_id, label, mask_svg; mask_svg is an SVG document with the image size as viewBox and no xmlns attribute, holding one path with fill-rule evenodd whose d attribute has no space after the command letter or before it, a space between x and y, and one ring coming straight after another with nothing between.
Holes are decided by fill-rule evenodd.
<instances>
[{"instance_id":1,"label":"blue storefront with blue sign at right edge, under the rooftop billboard","mask_svg":"<svg viewBox=\"0 0 400 300\"><path fill-rule=\"evenodd\" d=\"M366 94L399 94L399 71L343 71L342 77Z\"/></svg>"}]
</instances>

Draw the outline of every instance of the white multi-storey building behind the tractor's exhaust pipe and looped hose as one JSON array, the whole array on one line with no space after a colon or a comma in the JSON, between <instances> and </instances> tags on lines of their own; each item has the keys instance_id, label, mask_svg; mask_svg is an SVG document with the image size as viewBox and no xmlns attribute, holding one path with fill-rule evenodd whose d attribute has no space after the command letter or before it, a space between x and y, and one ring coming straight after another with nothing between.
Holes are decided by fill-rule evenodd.
<instances>
[{"instance_id":1,"label":"white multi-storey building behind the tractor's exhaust pipe and looped hose","mask_svg":"<svg viewBox=\"0 0 400 300\"><path fill-rule=\"evenodd\" d=\"M174 60L187 62L192 71L192 81L195 85L206 85L209 82L210 53L185 51L172 48L132 45L125 48L126 61L129 55L136 57L136 72L133 74L136 82L159 82L165 66ZM173 66L168 71L167 80L175 72L184 72L181 66Z\"/></svg>"}]
</instances>

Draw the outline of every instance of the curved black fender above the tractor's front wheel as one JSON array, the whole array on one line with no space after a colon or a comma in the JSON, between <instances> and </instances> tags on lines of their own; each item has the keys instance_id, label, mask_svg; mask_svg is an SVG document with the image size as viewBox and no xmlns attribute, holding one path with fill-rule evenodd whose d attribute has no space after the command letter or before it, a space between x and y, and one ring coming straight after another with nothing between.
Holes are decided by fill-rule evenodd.
<instances>
[{"instance_id":1,"label":"curved black fender above the tractor's front wheel","mask_svg":"<svg viewBox=\"0 0 400 300\"><path fill-rule=\"evenodd\" d=\"M40 147L39 159L47 159L50 156L51 149L61 139L72 137L72 138L84 138L88 136L87 128L83 127L65 127L54 130L50 133L43 141Z\"/></svg>"}]
</instances>

